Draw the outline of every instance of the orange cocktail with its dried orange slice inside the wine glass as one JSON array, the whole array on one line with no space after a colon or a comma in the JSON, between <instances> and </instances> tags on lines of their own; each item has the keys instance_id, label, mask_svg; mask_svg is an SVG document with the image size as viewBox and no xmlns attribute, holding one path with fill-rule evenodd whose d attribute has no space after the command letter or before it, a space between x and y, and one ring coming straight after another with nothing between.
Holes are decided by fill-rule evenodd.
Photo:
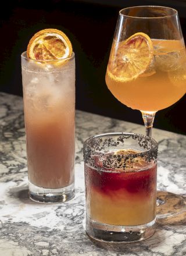
<instances>
[{"instance_id":1,"label":"orange cocktail with its dried orange slice inside the wine glass","mask_svg":"<svg viewBox=\"0 0 186 256\"><path fill-rule=\"evenodd\" d=\"M151 40L136 33L113 43L106 84L130 108L159 111L185 94L185 61L183 40Z\"/></svg>"}]
</instances>

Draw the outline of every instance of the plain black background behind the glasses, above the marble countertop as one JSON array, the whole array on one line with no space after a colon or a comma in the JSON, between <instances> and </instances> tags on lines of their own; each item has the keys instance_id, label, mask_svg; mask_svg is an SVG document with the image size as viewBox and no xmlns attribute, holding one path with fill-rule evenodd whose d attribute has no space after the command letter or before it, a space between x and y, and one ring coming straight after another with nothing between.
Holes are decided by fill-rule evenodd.
<instances>
[{"instance_id":1,"label":"plain black background behind the glasses, above the marble countertop","mask_svg":"<svg viewBox=\"0 0 186 256\"><path fill-rule=\"evenodd\" d=\"M186 1L51 0L3 1L0 16L0 91L22 95L20 54L41 29L62 30L76 54L76 108L134 123L140 111L121 104L105 84L105 72L120 9L135 5L165 5L178 9L186 35ZM156 113L154 127L186 134L186 96Z\"/></svg>"}]
</instances>

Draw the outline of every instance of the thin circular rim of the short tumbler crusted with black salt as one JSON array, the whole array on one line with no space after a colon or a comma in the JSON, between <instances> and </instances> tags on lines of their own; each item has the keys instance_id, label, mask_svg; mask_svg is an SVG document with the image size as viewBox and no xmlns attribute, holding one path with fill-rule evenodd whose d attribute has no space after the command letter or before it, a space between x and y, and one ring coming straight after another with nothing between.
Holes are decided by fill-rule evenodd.
<instances>
[{"instance_id":1,"label":"thin circular rim of the short tumbler crusted with black salt","mask_svg":"<svg viewBox=\"0 0 186 256\"><path fill-rule=\"evenodd\" d=\"M87 138L87 140L84 141L83 148L85 147L85 145L87 145L88 141L91 141L95 138L102 138L102 137L105 137L105 136L122 136L122 135L138 136L138 137L146 138L146 139L153 142L152 147L149 150L145 150L145 151L137 152L137 153L131 153L130 155L140 156L140 155L144 155L146 152L153 152L155 150L158 151L158 143L157 143L156 140L154 140L152 137L148 137L146 135L139 134L139 133L103 133L103 134L94 135L94 136L91 136L91 137ZM103 152L97 152L97 151L95 152L95 150L92 150L91 152L94 152L97 155L108 155L107 153L103 153ZM121 154L121 156L124 157L124 155L122 155L122 154Z\"/></svg>"}]
</instances>

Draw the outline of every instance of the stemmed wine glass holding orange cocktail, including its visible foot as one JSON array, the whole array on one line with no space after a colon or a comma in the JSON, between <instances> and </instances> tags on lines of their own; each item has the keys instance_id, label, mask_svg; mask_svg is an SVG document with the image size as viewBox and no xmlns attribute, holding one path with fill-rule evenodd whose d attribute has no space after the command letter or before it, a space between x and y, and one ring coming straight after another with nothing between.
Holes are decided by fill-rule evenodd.
<instances>
[{"instance_id":1,"label":"stemmed wine glass holding orange cocktail, including its visible foot","mask_svg":"<svg viewBox=\"0 0 186 256\"><path fill-rule=\"evenodd\" d=\"M151 137L155 113L186 91L186 52L177 10L163 6L120 10L106 84L121 103L141 111L146 136ZM185 211L183 198L173 195L158 194L159 218ZM171 209L170 201L174 201Z\"/></svg>"}]
</instances>

